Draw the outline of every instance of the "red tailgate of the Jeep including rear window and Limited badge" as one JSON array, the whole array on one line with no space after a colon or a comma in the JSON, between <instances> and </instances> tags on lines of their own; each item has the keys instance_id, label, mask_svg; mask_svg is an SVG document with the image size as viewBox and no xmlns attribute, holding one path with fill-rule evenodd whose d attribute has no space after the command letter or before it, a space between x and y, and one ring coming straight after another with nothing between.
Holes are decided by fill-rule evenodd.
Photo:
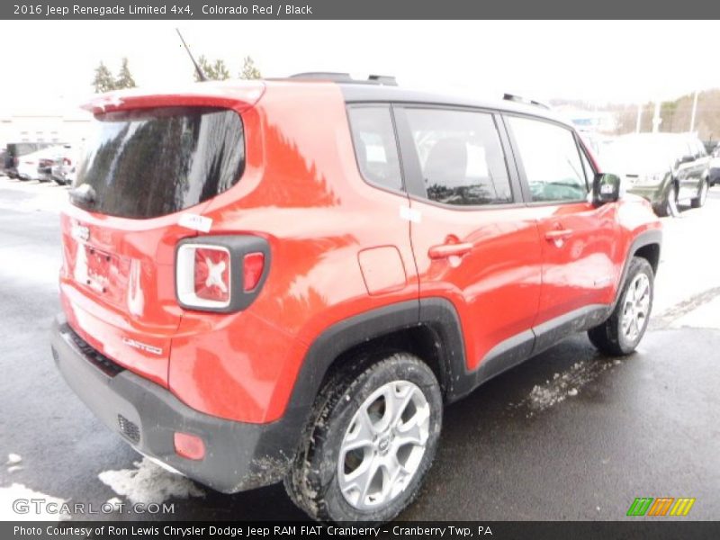
<instances>
[{"instance_id":1,"label":"red tailgate of the Jeep including rear window and Limited badge","mask_svg":"<svg viewBox=\"0 0 720 540\"><path fill-rule=\"evenodd\" d=\"M248 86L248 100L257 101L257 88ZM202 212L244 167L238 109L248 103L236 92L229 108L227 93L216 91L91 103L97 132L61 216L68 324L103 355L163 386L183 315L175 247L208 231Z\"/></svg>"}]
</instances>

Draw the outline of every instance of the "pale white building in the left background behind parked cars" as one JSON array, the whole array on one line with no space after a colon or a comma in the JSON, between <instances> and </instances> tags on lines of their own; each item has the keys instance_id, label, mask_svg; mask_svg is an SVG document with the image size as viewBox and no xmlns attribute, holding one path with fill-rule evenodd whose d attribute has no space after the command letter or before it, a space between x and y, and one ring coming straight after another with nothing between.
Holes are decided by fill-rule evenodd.
<instances>
[{"instance_id":1,"label":"pale white building in the left background behind parked cars","mask_svg":"<svg viewBox=\"0 0 720 540\"><path fill-rule=\"evenodd\" d=\"M0 148L9 142L67 142L79 145L87 137L93 115L62 101L32 109L0 111Z\"/></svg>"}]
</instances>

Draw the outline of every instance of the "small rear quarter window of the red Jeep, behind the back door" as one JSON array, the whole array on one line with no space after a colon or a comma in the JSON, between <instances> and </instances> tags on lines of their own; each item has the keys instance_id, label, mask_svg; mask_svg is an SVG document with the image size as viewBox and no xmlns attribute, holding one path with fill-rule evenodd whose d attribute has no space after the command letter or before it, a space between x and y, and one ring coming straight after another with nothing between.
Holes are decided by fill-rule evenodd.
<instances>
[{"instance_id":1,"label":"small rear quarter window of the red Jeep, behind the back door","mask_svg":"<svg viewBox=\"0 0 720 540\"><path fill-rule=\"evenodd\" d=\"M400 158L390 107L357 106L348 110L357 165L365 180L402 190Z\"/></svg>"}]
</instances>

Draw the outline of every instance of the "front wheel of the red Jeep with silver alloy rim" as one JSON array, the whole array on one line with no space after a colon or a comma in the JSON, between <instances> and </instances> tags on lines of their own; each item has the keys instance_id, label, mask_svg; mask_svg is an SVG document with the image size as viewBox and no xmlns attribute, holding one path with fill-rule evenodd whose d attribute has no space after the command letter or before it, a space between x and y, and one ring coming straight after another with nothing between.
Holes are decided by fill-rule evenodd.
<instances>
[{"instance_id":1,"label":"front wheel of the red Jeep with silver alloy rim","mask_svg":"<svg viewBox=\"0 0 720 540\"><path fill-rule=\"evenodd\" d=\"M588 331L592 344L610 356L635 351L650 320L653 296L653 266L642 257L633 257L615 311L603 324Z\"/></svg>"}]
</instances>

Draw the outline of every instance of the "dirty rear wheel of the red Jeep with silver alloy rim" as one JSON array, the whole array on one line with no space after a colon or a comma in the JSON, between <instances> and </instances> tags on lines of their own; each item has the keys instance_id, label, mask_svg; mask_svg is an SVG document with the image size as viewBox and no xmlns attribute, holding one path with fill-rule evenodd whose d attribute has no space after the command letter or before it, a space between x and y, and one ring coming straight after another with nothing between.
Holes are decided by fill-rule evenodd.
<instances>
[{"instance_id":1,"label":"dirty rear wheel of the red Jeep with silver alloy rim","mask_svg":"<svg viewBox=\"0 0 720 540\"><path fill-rule=\"evenodd\" d=\"M285 489L313 519L383 523L415 499L428 473L442 397L417 356L352 364L320 392Z\"/></svg>"}]
</instances>

